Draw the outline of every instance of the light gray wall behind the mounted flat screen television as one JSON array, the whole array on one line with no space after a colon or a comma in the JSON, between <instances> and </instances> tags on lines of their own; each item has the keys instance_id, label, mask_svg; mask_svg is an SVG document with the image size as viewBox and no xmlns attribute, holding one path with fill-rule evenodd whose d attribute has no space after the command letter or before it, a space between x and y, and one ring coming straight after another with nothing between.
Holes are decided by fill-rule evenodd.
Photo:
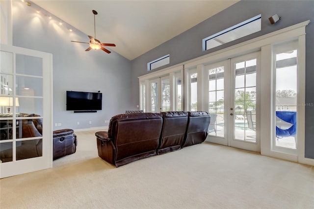
<instances>
[{"instance_id":1,"label":"light gray wall behind the mounted flat screen television","mask_svg":"<svg viewBox=\"0 0 314 209\"><path fill-rule=\"evenodd\" d=\"M36 14L32 7L13 1L13 46L52 53L53 130L106 126L105 120L130 109L131 61L113 52L89 51L86 34L69 32L58 22ZM47 12L48 13L48 12ZM94 31L91 31L91 35ZM66 91L103 93L103 110L97 113L66 111ZM92 124L89 124L89 121ZM77 125L79 122L79 125ZM55 123L61 126L55 127Z\"/></svg>"}]
</instances>

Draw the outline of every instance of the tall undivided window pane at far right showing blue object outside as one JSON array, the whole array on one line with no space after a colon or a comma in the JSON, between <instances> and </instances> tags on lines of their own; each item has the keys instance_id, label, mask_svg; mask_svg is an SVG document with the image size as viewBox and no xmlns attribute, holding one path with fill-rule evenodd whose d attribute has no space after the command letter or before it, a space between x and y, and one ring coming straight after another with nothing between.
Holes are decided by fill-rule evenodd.
<instances>
[{"instance_id":1,"label":"tall undivided window pane at far right showing blue object outside","mask_svg":"<svg viewBox=\"0 0 314 209\"><path fill-rule=\"evenodd\" d=\"M297 50L276 54L276 146L296 149Z\"/></svg>"}]
</instances>

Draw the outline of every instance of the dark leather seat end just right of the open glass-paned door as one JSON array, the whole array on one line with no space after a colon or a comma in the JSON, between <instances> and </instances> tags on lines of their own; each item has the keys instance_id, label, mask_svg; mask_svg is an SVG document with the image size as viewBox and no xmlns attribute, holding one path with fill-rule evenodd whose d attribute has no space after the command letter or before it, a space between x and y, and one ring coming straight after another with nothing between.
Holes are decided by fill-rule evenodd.
<instances>
[{"instance_id":1,"label":"dark leather seat end just right of the open glass-paned door","mask_svg":"<svg viewBox=\"0 0 314 209\"><path fill-rule=\"evenodd\" d=\"M75 153L77 145L77 135L72 129L53 131L53 159Z\"/></svg>"}]
</instances>

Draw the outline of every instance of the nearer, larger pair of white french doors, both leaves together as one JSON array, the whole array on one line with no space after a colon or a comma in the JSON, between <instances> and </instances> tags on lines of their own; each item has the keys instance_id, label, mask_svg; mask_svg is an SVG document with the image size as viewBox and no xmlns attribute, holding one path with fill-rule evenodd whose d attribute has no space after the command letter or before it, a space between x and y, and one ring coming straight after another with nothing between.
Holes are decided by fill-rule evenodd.
<instances>
[{"instance_id":1,"label":"nearer, larger pair of white french doors, both leaves together","mask_svg":"<svg viewBox=\"0 0 314 209\"><path fill-rule=\"evenodd\" d=\"M250 53L205 66L208 112L207 141L232 147L261 150L259 129L260 53Z\"/></svg>"}]
</instances>

